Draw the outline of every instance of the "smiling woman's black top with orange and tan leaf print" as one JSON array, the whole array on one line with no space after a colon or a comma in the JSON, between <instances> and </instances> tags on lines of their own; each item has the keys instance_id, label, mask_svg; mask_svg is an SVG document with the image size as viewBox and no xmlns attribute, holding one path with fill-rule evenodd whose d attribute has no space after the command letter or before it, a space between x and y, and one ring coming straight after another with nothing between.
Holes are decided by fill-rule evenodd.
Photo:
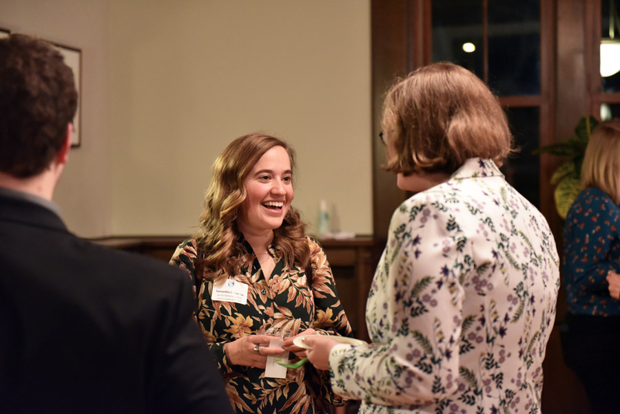
<instances>
[{"instance_id":1,"label":"smiling woman's black top with orange and tan leaf print","mask_svg":"<svg viewBox=\"0 0 620 414\"><path fill-rule=\"evenodd\" d=\"M252 335L261 329L291 330L293 335L313 328L318 333L351 336L351 326L336 293L335 282L320 244L307 238L313 271L312 289L306 269L285 266L282 254L271 246L276 260L269 280L249 243L240 274L233 277L248 285L247 304L211 300L213 282L203 279L197 292L198 324L216 355L231 404L238 413L286 414L322 413L327 404L342 405L344 400L331 391L329 373L316 371L311 364L288 369L286 378L264 377L265 370L236 366L227 361L224 344ZM172 265L185 269L194 278L196 240L185 240L176 249ZM294 358L292 353L289 358ZM295 359L297 360L297 358Z\"/></svg>"}]
</instances>

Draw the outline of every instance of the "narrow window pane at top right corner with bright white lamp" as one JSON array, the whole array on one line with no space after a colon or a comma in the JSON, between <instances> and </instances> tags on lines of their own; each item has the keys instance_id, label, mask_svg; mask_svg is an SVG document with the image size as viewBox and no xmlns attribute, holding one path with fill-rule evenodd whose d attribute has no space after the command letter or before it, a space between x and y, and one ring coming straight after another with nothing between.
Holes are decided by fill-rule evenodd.
<instances>
[{"instance_id":1,"label":"narrow window pane at top right corner with bright white lamp","mask_svg":"<svg viewBox=\"0 0 620 414\"><path fill-rule=\"evenodd\" d=\"M620 92L620 0L602 0L601 12L601 90Z\"/></svg>"}]
</instances>

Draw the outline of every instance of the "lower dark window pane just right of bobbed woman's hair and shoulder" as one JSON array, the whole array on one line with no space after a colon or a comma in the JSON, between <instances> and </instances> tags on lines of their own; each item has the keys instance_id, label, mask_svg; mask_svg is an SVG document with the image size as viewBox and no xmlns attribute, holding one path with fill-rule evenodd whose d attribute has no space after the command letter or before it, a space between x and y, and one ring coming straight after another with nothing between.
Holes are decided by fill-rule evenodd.
<instances>
[{"instance_id":1,"label":"lower dark window pane just right of bobbed woman's hair and shoulder","mask_svg":"<svg viewBox=\"0 0 620 414\"><path fill-rule=\"evenodd\" d=\"M538 107L520 107L506 110L510 132L515 138L515 147L520 151L508 158L502 172L508 183L519 193L540 206L540 156L532 151L540 146L540 111Z\"/></svg>"}]
</instances>

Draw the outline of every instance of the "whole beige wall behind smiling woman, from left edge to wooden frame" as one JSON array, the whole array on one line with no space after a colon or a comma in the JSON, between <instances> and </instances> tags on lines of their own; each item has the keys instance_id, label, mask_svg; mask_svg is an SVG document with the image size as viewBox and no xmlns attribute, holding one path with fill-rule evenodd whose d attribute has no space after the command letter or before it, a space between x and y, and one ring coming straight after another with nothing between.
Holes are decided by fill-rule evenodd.
<instances>
[{"instance_id":1,"label":"whole beige wall behind smiling woman, from left edge to wooden frame","mask_svg":"<svg viewBox=\"0 0 620 414\"><path fill-rule=\"evenodd\" d=\"M19 3L19 4L18 4ZM83 145L56 201L81 236L194 230L211 163L263 131L296 205L371 233L369 1L0 1L0 26L83 50Z\"/></svg>"}]
</instances>

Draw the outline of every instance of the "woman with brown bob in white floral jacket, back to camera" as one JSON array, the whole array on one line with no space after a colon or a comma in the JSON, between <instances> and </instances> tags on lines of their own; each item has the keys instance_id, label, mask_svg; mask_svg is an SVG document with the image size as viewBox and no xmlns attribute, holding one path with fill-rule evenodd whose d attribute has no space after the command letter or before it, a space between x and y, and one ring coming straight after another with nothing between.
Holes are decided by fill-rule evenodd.
<instances>
[{"instance_id":1,"label":"woman with brown bob in white floral jacket, back to camera","mask_svg":"<svg viewBox=\"0 0 620 414\"><path fill-rule=\"evenodd\" d=\"M559 259L544 216L504 179L510 131L472 72L434 63L389 90L394 211L371 284L373 344L307 337L362 413L540 413Z\"/></svg>"}]
</instances>

